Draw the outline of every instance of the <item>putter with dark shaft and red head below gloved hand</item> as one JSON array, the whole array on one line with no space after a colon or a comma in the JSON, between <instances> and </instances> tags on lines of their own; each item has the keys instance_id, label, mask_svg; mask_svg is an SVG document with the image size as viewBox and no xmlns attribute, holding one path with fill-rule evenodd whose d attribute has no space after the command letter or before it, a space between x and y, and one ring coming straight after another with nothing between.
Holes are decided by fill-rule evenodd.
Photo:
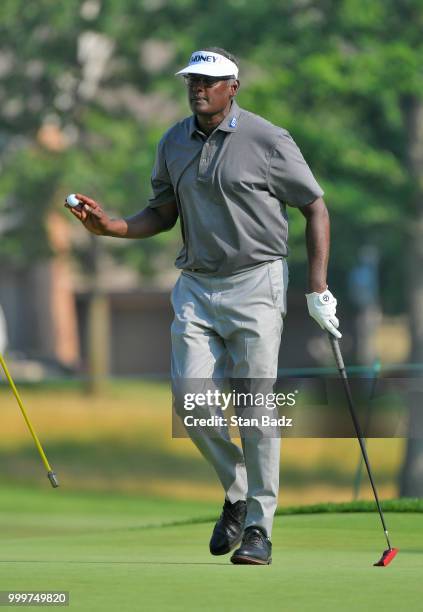
<instances>
[{"instance_id":1,"label":"putter with dark shaft and red head below gloved hand","mask_svg":"<svg viewBox=\"0 0 423 612\"><path fill-rule=\"evenodd\" d=\"M392 548L391 543L389 541L388 529L386 527L385 518L383 516L382 508L381 508L381 505L380 505L380 502L379 502L379 496L377 494L376 485L375 485L374 480L373 480L372 470L370 468L370 462L369 462L369 458L367 456L367 451L366 451L366 444L365 444L364 437L363 437L363 434L361 432L360 424L358 422L356 411L355 411L355 408L354 408L353 399L352 399L352 395L351 395L351 389L350 389L350 385L348 383L347 372L345 370L344 360L342 358L341 349L339 348L338 339L335 338L335 336L333 336L330 332L328 332L328 336L329 336L329 341L330 341L331 346L332 346L333 355L335 357L336 366L337 366L337 368L339 370L339 373L341 375L341 378L342 378L342 383L343 383L343 386L344 386L345 395L347 396L348 408L349 408L350 413L351 413L351 418L352 418L352 421L353 421L353 424L354 424L354 428L355 428L355 431L356 431L356 434L357 434L357 439L358 439L359 444L360 444L361 453L363 455L364 463L366 464L367 474L369 475L370 484L372 485L373 494L374 494L374 497L375 497L375 501L376 501L377 509L378 509L378 512L379 512L380 520L382 522L383 532L385 534L386 542L388 544L388 548L383 551L382 556L379 559L379 561L377 561L373 565L379 566L379 567L386 567L387 565L389 565L389 563L392 561L392 559L398 553L398 548Z\"/></svg>"}]
</instances>

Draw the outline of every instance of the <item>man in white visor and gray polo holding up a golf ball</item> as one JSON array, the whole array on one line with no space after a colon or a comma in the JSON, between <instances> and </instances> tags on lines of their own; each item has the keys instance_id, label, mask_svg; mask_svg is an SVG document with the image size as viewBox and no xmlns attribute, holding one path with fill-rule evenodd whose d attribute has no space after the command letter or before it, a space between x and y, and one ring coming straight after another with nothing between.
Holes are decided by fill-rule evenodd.
<instances>
[{"instance_id":1,"label":"man in white visor and gray polo holding up a golf ball","mask_svg":"<svg viewBox=\"0 0 423 612\"><path fill-rule=\"evenodd\" d=\"M310 315L340 337L336 300L327 289L329 218L323 191L289 133L245 111L235 58L220 48L192 54L185 78L193 115L176 123L158 146L149 205L110 219L81 194L71 212L99 235L147 238L180 218L181 275L172 292L172 379L225 376L274 380L286 313L286 204L306 219ZM228 363L230 371L228 372ZM187 428L188 429L188 428ZM233 563L269 564L279 488L280 437L242 437L222 426L189 431L225 490L210 552Z\"/></svg>"}]
</instances>

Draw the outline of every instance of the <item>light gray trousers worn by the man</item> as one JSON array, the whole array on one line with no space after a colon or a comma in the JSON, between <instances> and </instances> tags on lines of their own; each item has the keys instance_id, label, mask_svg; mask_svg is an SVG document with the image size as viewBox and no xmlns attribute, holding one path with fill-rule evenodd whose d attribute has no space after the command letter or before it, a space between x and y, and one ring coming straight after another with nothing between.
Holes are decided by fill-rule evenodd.
<instances>
[{"instance_id":1,"label":"light gray trousers worn by the man","mask_svg":"<svg viewBox=\"0 0 423 612\"><path fill-rule=\"evenodd\" d=\"M231 276L181 273L172 291L174 398L181 381L276 379L287 284L285 259ZM176 411L181 415L183 409L176 406ZM246 527L259 525L270 537L280 437L241 437L240 448L227 427L218 436L210 436L207 428L186 429L215 468L229 501L247 501Z\"/></svg>"}]
</instances>

